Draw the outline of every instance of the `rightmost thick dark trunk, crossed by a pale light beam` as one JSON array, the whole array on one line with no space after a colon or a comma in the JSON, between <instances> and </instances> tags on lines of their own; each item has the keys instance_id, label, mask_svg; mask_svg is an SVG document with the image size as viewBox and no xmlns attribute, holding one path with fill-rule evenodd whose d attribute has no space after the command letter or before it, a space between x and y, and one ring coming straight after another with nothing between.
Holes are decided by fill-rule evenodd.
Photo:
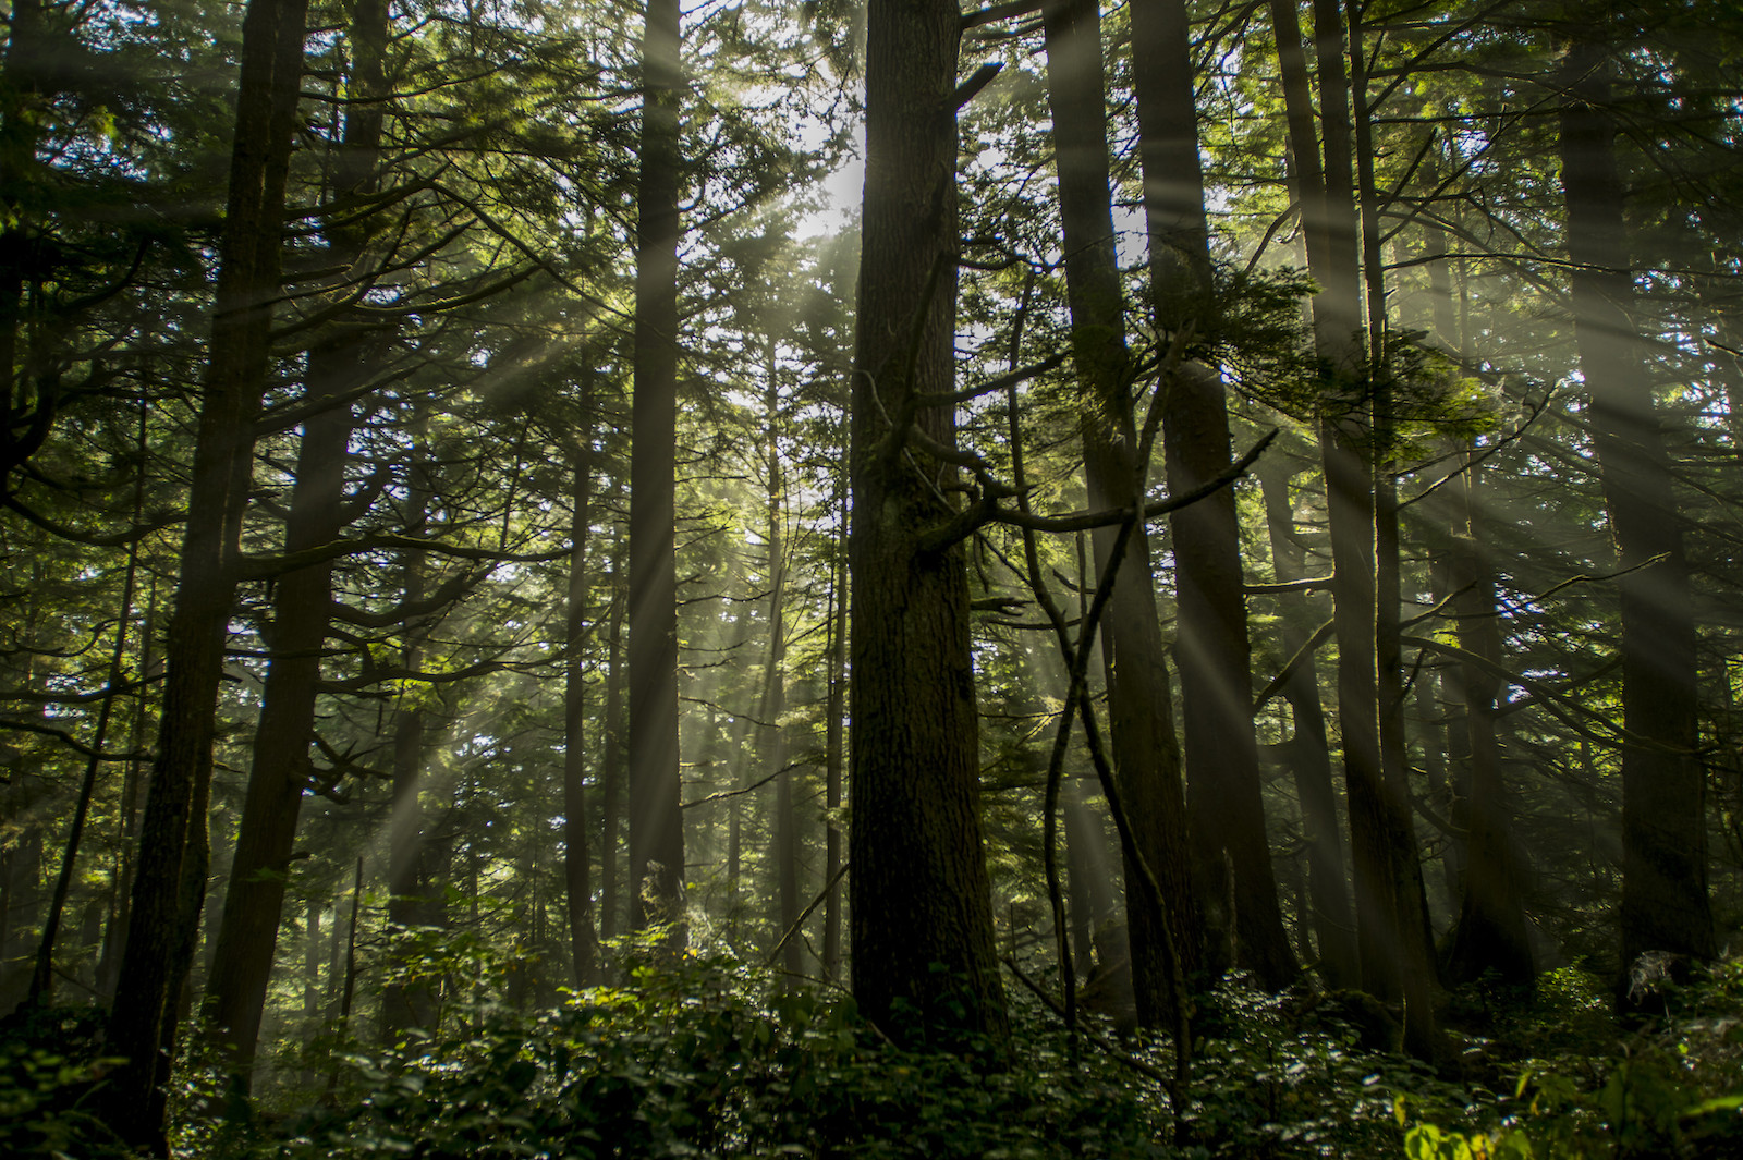
<instances>
[{"instance_id":1,"label":"rightmost thick dark trunk, crossed by a pale light beam","mask_svg":"<svg viewBox=\"0 0 1743 1160\"><path fill-rule=\"evenodd\" d=\"M1597 30L1567 51L1562 190L1579 368L1591 399L1611 535L1628 570L1623 655L1623 970L1645 951L1710 958L1706 777L1694 751L1696 627L1663 420L1630 317L1624 188L1611 111L1614 49Z\"/></svg>"}]
</instances>

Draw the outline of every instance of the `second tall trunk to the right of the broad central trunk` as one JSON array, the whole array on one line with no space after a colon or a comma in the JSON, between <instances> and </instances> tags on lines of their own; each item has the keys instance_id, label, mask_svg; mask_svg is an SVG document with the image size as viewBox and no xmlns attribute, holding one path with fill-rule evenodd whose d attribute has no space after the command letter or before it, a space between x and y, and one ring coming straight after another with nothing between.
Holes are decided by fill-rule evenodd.
<instances>
[{"instance_id":1,"label":"second tall trunk to the right of the broad central trunk","mask_svg":"<svg viewBox=\"0 0 1743 1160\"><path fill-rule=\"evenodd\" d=\"M1143 206L1150 239L1150 291L1157 329L1175 333L1208 312L1213 293L1204 176L1199 167L1192 52L1183 0L1138 0L1131 9L1133 84L1138 98ZM1229 408L1222 378L1182 364L1164 390L1163 456L1168 489L1183 495L1229 470ZM1295 977L1253 737L1251 648L1241 597L1241 533L1234 488L1170 517L1178 617L1187 829L1199 907L1210 916L1234 900L1232 937L1241 965L1260 984ZM1229 880L1232 871L1234 881ZM1208 923L1206 960L1222 944Z\"/></svg>"}]
</instances>

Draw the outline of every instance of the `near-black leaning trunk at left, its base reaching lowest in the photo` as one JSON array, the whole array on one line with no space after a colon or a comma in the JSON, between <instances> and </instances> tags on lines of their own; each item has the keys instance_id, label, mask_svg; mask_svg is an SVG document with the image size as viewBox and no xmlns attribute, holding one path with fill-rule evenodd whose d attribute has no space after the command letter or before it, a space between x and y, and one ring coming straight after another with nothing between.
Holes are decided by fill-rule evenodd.
<instances>
[{"instance_id":1,"label":"near-black leaning trunk at left, its base reaching lowest in the photo","mask_svg":"<svg viewBox=\"0 0 1743 1160\"><path fill-rule=\"evenodd\" d=\"M169 632L157 765L145 806L127 953L108 1050L127 1059L101 1094L129 1144L162 1155L174 1003L187 981L206 890L213 716L235 592L235 543L253 467L253 423L270 359L284 185L302 82L305 0L251 0L218 305L195 435L181 582Z\"/></svg>"}]
</instances>

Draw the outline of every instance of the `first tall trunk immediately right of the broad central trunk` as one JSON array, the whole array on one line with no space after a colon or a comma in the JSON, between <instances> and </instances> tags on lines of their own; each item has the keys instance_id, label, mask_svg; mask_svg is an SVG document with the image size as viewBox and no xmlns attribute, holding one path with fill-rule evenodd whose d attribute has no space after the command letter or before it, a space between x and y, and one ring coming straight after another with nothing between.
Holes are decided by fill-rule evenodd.
<instances>
[{"instance_id":1,"label":"first tall trunk immediately right of the broad central trunk","mask_svg":"<svg viewBox=\"0 0 1743 1160\"><path fill-rule=\"evenodd\" d=\"M1060 212L1065 226L1065 282L1072 312L1072 359L1086 394L1082 442L1089 507L1124 507L1143 489L1149 465L1136 462L1131 415L1131 359L1126 352L1114 216L1109 200L1107 115L1102 92L1102 33L1089 0L1049 0L1048 91L1053 103L1055 157L1060 171ZM1096 570L1112 556L1117 529L1095 533ZM1170 914L1142 906L1143 892L1128 888L1133 984L1138 1021L1168 1022L1171 984L1163 951L1164 925L1182 932L1178 951L1187 974L1201 944L1187 852L1185 794L1175 740L1173 695L1168 686L1161 622L1143 526L1119 563L1114 596L1102 629L1102 662L1109 686L1114 768L1138 829L1138 855L1156 871ZM1126 867L1128 880L1136 878ZM1138 906L1133 906L1140 902Z\"/></svg>"}]
</instances>

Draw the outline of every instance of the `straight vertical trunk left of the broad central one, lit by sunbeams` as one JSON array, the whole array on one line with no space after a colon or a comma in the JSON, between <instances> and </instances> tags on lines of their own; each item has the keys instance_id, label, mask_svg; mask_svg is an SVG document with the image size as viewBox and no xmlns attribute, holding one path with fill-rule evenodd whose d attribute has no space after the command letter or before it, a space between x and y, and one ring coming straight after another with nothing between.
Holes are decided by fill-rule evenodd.
<instances>
[{"instance_id":1,"label":"straight vertical trunk left of the broad central one, lit by sunbeams","mask_svg":"<svg viewBox=\"0 0 1743 1160\"><path fill-rule=\"evenodd\" d=\"M638 930L683 942L678 808L678 0L648 0L636 188L634 402L629 456L629 883Z\"/></svg>"}]
</instances>

